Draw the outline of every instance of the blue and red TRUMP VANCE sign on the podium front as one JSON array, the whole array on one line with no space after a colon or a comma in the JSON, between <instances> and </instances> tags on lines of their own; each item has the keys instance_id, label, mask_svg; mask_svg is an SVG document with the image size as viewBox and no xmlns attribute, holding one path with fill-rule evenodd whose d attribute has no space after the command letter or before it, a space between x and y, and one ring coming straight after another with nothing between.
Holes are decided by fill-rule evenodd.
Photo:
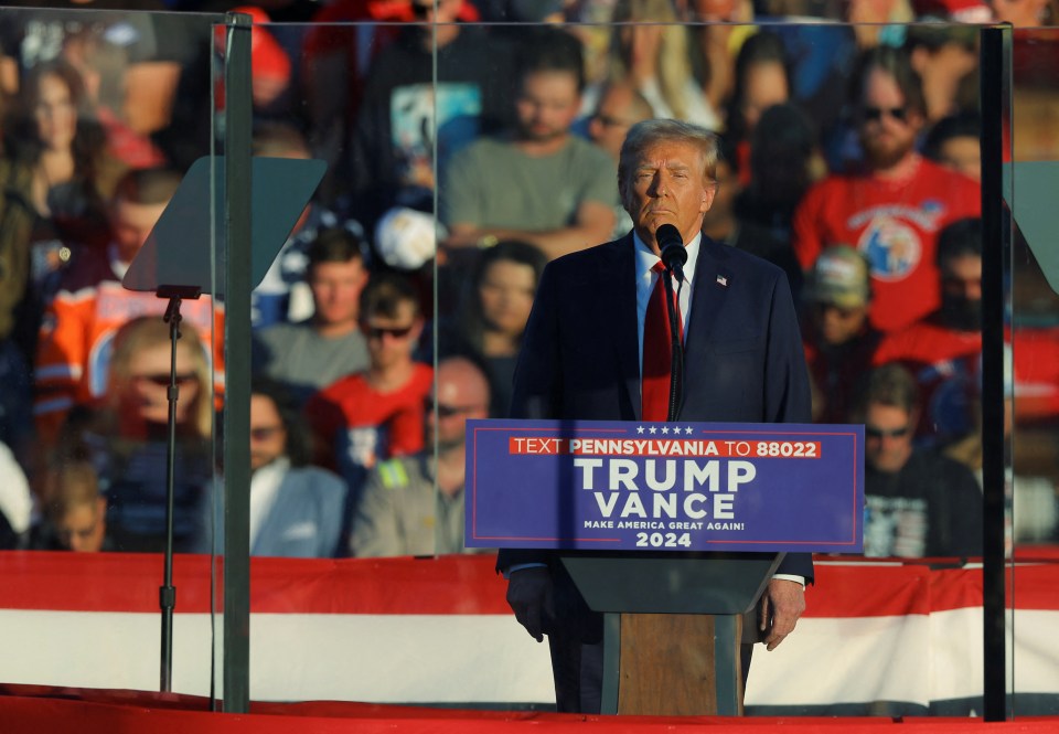
<instances>
[{"instance_id":1,"label":"blue and red TRUMP VANCE sign on the podium front","mask_svg":"<svg viewBox=\"0 0 1059 734\"><path fill-rule=\"evenodd\" d=\"M860 553L864 426L467 422L468 547Z\"/></svg>"}]
</instances>

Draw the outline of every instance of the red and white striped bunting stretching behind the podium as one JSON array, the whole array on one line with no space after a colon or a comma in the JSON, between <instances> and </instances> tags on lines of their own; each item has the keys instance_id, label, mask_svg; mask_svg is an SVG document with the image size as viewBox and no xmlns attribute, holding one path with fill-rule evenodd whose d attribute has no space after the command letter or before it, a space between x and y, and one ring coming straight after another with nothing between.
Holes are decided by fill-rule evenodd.
<instances>
[{"instance_id":1,"label":"red and white striped bunting stretching behind the podium","mask_svg":"<svg viewBox=\"0 0 1059 734\"><path fill-rule=\"evenodd\" d=\"M260 726L282 725L268 719L277 715L313 721L276 730L299 732L982 724L974 564L819 557L798 629L775 651L755 655L748 716L666 722L550 713L547 646L514 621L492 565L490 556L253 560L254 716ZM26 731L65 731L71 716L93 732L169 731L160 727L184 717L195 722L181 731L242 726L243 717L208 712L211 567L206 556L176 557L176 693L163 696L150 693L159 681L160 556L0 553L0 734L34 721L41 725ZM1059 714L1059 564L1035 550L1014 574L1009 679L1020 719L1009 731L1059 732L1059 719L1048 719ZM351 720L357 727L343 728Z\"/></svg>"}]
</instances>

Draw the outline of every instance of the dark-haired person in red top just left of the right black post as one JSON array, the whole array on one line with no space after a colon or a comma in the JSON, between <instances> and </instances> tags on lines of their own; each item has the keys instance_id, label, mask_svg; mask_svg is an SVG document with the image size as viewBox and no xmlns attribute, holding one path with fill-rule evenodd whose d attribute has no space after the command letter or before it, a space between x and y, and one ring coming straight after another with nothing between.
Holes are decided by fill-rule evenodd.
<instances>
[{"instance_id":1,"label":"dark-haired person in red top just left of the right black post","mask_svg":"<svg viewBox=\"0 0 1059 734\"><path fill-rule=\"evenodd\" d=\"M900 362L919 385L917 438L948 443L975 427L971 406L982 361L982 222L960 220L938 236L941 307L888 334L875 363Z\"/></svg>"}]
</instances>

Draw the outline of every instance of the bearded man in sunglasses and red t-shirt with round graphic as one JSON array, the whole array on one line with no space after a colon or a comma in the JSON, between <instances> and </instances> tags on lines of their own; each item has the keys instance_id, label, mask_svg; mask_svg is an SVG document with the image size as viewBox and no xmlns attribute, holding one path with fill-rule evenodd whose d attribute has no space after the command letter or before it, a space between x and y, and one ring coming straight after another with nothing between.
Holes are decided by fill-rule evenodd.
<instances>
[{"instance_id":1,"label":"bearded man in sunglasses and red t-shirt with round graphic","mask_svg":"<svg viewBox=\"0 0 1059 734\"><path fill-rule=\"evenodd\" d=\"M907 52L866 51L855 78L864 168L810 189L794 215L793 246L807 269L828 244L856 245L871 264L871 325L890 332L938 308L938 232L977 216L981 190L916 152L926 103Z\"/></svg>"}]
</instances>

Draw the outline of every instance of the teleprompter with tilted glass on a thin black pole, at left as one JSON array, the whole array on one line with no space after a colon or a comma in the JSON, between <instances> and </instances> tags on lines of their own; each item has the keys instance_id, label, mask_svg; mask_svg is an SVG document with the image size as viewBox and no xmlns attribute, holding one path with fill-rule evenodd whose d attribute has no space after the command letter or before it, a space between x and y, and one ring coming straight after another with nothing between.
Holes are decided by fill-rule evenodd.
<instances>
[{"instance_id":1,"label":"teleprompter with tilted glass on a thin black pole, at left","mask_svg":"<svg viewBox=\"0 0 1059 734\"><path fill-rule=\"evenodd\" d=\"M250 267L248 285L250 288L261 281L268 267L276 259L287 237L295 228L299 216L306 209L312 192L319 185L327 164L319 160L285 158L254 158L250 161ZM167 455L167 498L165 498L165 567L162 586L159 591L159 604L162 611L161 640L161 681L162 692L172 691L173 657L173 610L176 606L176 589L173 585L173 493L175 477L175 417L179 386L176 384L176 341L180 339L180 306L183 300L194 300L203 295L216 299L217 304L226 298L231 301L235 294L226 296L223 277L224 268L232 253L228 242L238 240L237 233L228 230L228 212L225 208L226 163L222 156L204 157L196 160L184 175L165 210L159 217L143 246L129 265L121 284L129 290L154 292L159 298L168 298L165 322L170 328L171 361L169 384L169 447ZM245 233L243 233L245 234ZM235 267L235 266L233 266ZM222 277L218 277L222 276ZM249 297L249 291L245 294ZM232 302L228 306L233 306ZM227 313L235 311L228 308ZM236 343L245 345L245 364L249 364L248 334L249 318L245 323L225 320L225 334L213 334L214 339L224 339L225 369L232 370L238 362L233 353ZM237 336L233 337L233 329ZM247 370L248 371L248 370ZM239 372L244 377L245 372ZM226 443L225 456L238 455L238 460L225 461L224 524L225 550L228 562L226 568L249 567L249 385L248 380L228 381L225 391L225 419L238 415L239 421L231 421L238 426L228 432L229 439L243 444L243 450L232 451ZM231 457L229 457L231 458ZM216 503L214 503L216 509ZM214 531L220 524L214 517L211 524ZM248 573L238 574L238 583L228 583L236 574L225 576L224 604L226 613L242 603L240 609L248 614L249 584ZM238 593L236 593L238 592ZM236 614L228 615L235 619ZM248 625L239 626L242 649L248 656ZM227 629L226 629L227 632ZM232 660L236 656L227 659Z\"/></svg>"}]
</instances>

